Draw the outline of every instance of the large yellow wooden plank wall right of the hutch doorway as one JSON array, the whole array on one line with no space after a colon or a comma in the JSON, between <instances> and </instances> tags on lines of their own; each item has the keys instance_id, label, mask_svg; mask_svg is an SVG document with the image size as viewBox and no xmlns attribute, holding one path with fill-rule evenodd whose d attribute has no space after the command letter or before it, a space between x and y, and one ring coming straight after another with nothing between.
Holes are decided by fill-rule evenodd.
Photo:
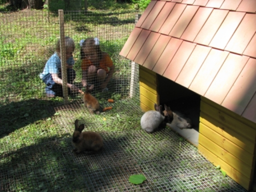
<instances>
[{"instance_id":1,"label":"large yellow wooden plank wall right of the hutch doorway","mask_svg":"<svg viewBox=\"0 0 256 192\"><path fill-rule=\"evenodd\" d=\"M255 166L256 124L201 97L198 151L249 190Z\"/></svg>"}]
</instances>

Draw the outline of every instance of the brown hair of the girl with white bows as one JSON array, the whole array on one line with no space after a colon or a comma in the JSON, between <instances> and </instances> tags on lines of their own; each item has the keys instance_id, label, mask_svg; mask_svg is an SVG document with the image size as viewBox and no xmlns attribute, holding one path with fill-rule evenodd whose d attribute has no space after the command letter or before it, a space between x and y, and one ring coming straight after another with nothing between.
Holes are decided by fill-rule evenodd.
<instances>
[{"instance_id":1,"label":"brown hair of the girl with white bows","mask_svg":"<svg viewBox=\"0 0 256 192\"><path fill-rule=\"evenodd\" d=\"M99 55L100 60L102 59L102 51L100 49L100 45L95 44L95 39L93 37L85 39L82 43L80 51L81 59L84 59L92 51Z\"/></svg>"}]
</instances>

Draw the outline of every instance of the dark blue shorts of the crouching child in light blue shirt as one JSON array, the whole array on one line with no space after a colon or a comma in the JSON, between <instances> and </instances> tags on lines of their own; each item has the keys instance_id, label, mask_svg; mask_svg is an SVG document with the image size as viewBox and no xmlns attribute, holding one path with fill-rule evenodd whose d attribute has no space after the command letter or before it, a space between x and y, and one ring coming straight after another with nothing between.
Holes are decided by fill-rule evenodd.
<instances>
[{"instance_id":1,"label":"dark blue shorts of the crouching child in light blue shirt","mask_svg":"<svg viewBox=\"0 0 256 192\"><path fill-rule=\"evenodd\" d=\"M58 77L61 79L61 73L58 74ZM68 83L73 84L74 79L76 78L76 72L74 69L67 69L67 80ZM45 75L42 78L43 82L46 84L45 92L47 97L54 95L55 97L63 97L63 90L60 84L57 84L52 79L51 73ZM70 88L68 88L68 94L70 95Z\"/></svg>"}]
</instances>

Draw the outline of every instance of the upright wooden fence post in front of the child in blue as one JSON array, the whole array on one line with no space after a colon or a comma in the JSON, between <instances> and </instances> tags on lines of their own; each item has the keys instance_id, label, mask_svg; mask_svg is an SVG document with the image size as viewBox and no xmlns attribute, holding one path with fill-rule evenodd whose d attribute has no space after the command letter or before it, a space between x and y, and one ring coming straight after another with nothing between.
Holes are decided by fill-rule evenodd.
<instances>
[{"instance_id":1,"label":"upright wooden fence post in front of the child in blue","mask_svg":"<svg viewBox=\"0 0 256 192\"><path fill-rule=\"evenodd\" d=\"M65 50L65 33L64 33L64 13L59 9L60 23L60 57L61 57L61 79L64 104L68 103L68 88L67 88L67 68L66 68L66 50Z\"/></svg>"}]
</instances>

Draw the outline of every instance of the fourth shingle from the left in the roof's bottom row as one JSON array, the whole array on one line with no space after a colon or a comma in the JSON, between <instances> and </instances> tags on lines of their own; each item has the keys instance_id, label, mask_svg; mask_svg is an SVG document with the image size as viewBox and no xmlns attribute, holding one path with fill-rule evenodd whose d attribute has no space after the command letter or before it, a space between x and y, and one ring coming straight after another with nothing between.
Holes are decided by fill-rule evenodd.
<instances>
[{"instance_id":1,"label":"fourth shingle from the left in the roof's bottom row","mask_svg":"<svg viewBox=\"0 0 256 192\"><path fill-rule=\"evenodd\" d=\"M158 38L155 46L151 50L150 54L148 55L147 59L145 60L143 66L152 70L155 66L157 60L161 56L162 52L164 51L166 45L168 44L171 37L167 35L160 35Z\"/></svg>"}]
</instances>

